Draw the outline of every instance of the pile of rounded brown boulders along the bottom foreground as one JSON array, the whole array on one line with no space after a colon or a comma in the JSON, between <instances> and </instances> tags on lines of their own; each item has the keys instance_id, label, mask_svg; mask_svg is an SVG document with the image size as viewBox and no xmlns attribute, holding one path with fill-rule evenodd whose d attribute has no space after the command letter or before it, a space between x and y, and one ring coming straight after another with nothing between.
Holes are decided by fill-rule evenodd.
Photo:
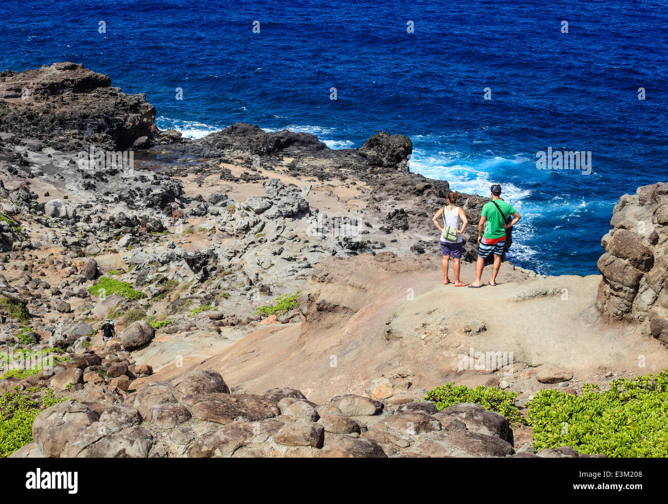
<instances>
[{"instance_id":1,"label":"pile of rounded brown boulders along the bottom foreground","mask_svg":"<svg viewBox=\"0 0 668 504\"><path fill-rule=\"evenodd\" d=\"M96 406L98 410L66 401L47 408L33 425L34 442L17 455L385 458L515 453L508 419L478 404L438 411L431 402L389 406L354 394L315 404L290 388L230 394L222 376L210 370L150 384L123 405ZM304 417L297 410L312 414ZM314 415L315 410L323 415ZM522 454L578 456L568 447Z\"/></svg>"}]
</instances>

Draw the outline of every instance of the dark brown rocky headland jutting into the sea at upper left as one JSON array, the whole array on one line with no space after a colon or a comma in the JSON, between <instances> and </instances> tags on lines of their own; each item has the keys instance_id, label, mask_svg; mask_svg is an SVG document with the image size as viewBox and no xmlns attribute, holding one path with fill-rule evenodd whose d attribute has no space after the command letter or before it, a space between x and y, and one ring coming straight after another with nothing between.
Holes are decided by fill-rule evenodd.
<instances>
[{"instance_id":1,"label":"dark brown rocky headland jutting into the sea at upper left","mask_svg":"<svg viewBox=\"0 0 668 504\"><path fill-rule=\"evenodd\" d=\"M79 150L84 142L124 150L153 138L156 110L145 94L124 94L109 76L81 64L54 63L0 72L0 131Z\"/></svg>"}]
</instances>

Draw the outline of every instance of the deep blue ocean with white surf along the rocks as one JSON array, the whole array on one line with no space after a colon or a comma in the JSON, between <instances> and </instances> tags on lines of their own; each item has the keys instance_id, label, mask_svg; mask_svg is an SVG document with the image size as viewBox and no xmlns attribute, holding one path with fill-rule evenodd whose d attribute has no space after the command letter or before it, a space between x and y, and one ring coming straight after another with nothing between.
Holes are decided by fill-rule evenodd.
<instances>
[{"instance_id":1,"label":"deep blue ocean with white surf along the rocks","mask_svg":"<svg viewBox=\"0 0 668 504\"><path fill-rule=\"evenodd\" d=\"M160 128L190 136L238 121L332 148L406 134L412 171L482 195L502 184L524 217L512 262L585 275L619 197L668 181L667 7L5 0L0 68L83 63L145 92ZM591 151L591 173L538 170L548 147Z\"/></svg>"}]
</instances>

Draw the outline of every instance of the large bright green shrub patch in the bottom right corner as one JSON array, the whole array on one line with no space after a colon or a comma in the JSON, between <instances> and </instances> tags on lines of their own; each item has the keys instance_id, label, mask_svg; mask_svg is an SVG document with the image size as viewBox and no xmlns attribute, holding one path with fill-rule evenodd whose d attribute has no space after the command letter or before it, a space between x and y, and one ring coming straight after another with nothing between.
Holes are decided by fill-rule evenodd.
<instances>
[{"instance_id":1,"label":"large bright green shrub patch in the bottom right corner","mask_svg":"<svg viewBox=\"0 0 668 504\"><path fill-rule=\"evenodd\" d=\"M668 457L668 370L585 385L581 396L540 390L529 403L536 449L573 447L607 457Z\"/></svg>"}]
</instances>

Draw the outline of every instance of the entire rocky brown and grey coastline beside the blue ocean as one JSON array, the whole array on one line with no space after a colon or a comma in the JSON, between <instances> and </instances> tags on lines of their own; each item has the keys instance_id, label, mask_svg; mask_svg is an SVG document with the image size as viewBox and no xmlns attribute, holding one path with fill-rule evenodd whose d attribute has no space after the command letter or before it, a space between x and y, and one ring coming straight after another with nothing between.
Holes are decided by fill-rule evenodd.
<instances>
[{"instance_id":1,"label":"entire rocky brown and grey coastline beside the blue ocean","mask_svg":"<svg viewBox=\"0 0 668 504\"><path fill-rule=\"evenodd\" d=\"M523 409L643 374L639 355L668 368L668 183L621 197L601 275L506 263L446 313L431 216L451 188L410 172L407 136L192 140L155 116L80 64L0 72L0 354L57 357L0 379L43 405L13 457L583 457L424 396L456 381ZM486 201L460 195L468 275ZM512 359L462 367L490 352Z\"/></svg>"}]
</instances>

